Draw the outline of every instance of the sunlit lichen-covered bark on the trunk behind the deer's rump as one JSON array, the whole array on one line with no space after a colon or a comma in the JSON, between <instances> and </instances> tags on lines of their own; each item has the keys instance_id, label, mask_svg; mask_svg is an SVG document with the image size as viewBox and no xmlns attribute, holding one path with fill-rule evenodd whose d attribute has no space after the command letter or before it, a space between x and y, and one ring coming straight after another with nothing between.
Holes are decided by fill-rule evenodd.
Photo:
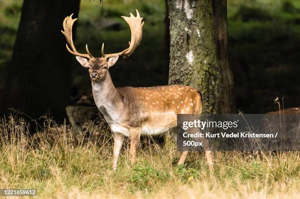
<instances>
[{"instance_id":1,"label":"sunlit lichen-covered bark on the trunk behind the deer's rump","mask_svg":"<svg viewBox=\"0 0 300 199\"><path fill-rule=\"evenodd\" d=\"M202 94L202 112L220 112L222 78L212 1L168 0L167 3L171 36L169 84L198 88Z\"/></svg>"}]
</instances>

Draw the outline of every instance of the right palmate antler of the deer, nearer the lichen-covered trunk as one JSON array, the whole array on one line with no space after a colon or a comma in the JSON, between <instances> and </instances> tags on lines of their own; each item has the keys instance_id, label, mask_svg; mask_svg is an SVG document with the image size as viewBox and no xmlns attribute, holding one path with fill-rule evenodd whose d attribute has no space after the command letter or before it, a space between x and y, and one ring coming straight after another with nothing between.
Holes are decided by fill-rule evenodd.
<instances>
[{"instance_id":1,"label":"right palmate antler of the deer, nearer the lichen-covered trunk","mask_svg":"<svg viewBox=\"0 0 300 199\"><path fill-rule=\"evenodd\" d=\"M122 52L114 53L114 54L104 54L104 43L102 44L101 54L102 57L108 59L110 57L119 55L124 55L124 58L130 56L135 48L140 44L143 35L143 18L140 17L140 13L136 10L136 17L134 17L130 13L130 17L121 16L129 25L131 31L131 41L129 42L129 47L123 50Z\"/></svg>"}]
</instances>

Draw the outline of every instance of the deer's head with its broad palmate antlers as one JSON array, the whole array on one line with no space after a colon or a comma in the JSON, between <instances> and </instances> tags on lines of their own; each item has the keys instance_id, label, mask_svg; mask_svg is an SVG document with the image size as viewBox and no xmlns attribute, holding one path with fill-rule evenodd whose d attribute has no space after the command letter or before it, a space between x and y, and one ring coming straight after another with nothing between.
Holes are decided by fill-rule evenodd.
<instances>
[{"instance_id":1,"label":"deer's head with its broad palmate antlers","mask_svg":"<svg viewBox=\"0 0 300 199\"><path fill-rule=\"evenodd\" d=\"M64 31L61 30L61 32L66 37L67 42L71 46L72 50L69 48L68 44L66 44L66 47L70 53L76 55L76 60L81 64L81 66L89 69L89 74L92 81L101 81L105 79L108 68L113 66L117 62L119 56L123 56L123 58L130 56L135 48L140 44L142 40L142 28L144 22L142 22L143 18L140 17L140 14L137 10L136 13L136 17L134 17L131 13L130 17L121 16L130 27L131 41L129 42L129 47L118 53L104 54L103 43L101 48L101 57L93 57L88 49L87 44L87 54L77 52L72 39L72 27L77 19L72 19L73 14L65 18L63 22Z\"/></svg>"}]
</instances>

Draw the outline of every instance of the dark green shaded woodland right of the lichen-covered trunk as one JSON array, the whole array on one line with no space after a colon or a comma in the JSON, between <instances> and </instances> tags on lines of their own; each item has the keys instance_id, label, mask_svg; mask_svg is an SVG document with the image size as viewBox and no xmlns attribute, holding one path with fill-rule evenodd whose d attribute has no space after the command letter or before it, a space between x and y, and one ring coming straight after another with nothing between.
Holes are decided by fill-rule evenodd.
<instances>
[{"instance_id":1,"label":"dark green shaded woodland right of the lichen-covered trunk","mask_svg":"<svg viewBox=\"0 0 300 199\"><path fill-rule=\"evenodd\" d=\"M299 0L228 1L228 54L239 110L273 111L277 96L285 96L286 106L299 106L299 45Z\"/></svg>"}]
</instances>

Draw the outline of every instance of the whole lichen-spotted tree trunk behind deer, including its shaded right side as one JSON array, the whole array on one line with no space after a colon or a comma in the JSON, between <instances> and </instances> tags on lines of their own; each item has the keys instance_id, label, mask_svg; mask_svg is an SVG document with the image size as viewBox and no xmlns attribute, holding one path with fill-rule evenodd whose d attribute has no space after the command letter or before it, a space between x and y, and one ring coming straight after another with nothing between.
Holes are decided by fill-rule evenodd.
<instances>
[{"instance_id":1,"label":"whole lichen-spotted tree trunk behind deer, including its shaded right side","mask_svg":"<svg viewBox=\"0 0 300 199\"><path fill-rule=\"evenodd\" d=\"M212 3L212 1L214 1ZM168 0L169 84L198 88L203 113L233 111L225 0Z\"/></svg>"}]
</instances>

